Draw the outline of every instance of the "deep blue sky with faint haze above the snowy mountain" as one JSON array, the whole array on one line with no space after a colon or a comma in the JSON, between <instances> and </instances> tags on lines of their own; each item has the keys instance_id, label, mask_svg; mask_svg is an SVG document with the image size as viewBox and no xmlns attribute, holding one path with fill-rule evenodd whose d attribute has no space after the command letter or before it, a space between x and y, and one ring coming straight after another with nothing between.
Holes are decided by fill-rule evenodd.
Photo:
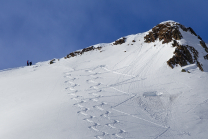
<instances>
[{"instance_id":1,"label":"deep blue sky with faint haze above the snowy mountain","mask_svg":"<svg viewBox=\"0 0 208 139\"><path fill-rule=\"evenodd\" d=\"M208 0L0 0L0 70L174 20L208 42Z\"/></svg>"}]
</instances>

